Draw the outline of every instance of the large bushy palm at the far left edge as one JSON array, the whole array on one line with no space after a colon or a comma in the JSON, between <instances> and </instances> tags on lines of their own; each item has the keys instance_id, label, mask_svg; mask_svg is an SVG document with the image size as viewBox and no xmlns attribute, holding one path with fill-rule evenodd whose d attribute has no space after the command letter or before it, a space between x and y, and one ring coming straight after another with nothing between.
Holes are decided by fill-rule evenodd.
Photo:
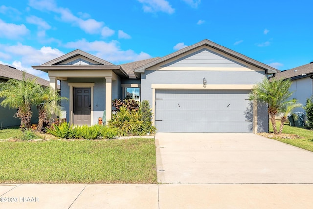
<instances>
[{"instance_id":1,"label":"large bushy palm at the far left edge","mask_svg":"<svg viewBox=\"0 0 313 209\"><path fill-rule=\"evenodd\" d=\"M10 79L0 84L0 98L4 98L1 105L17 109L14 117L21 119L20 128L31 127L31 106L36 104L40 97L41 88L36 79L26 79L25 72L22 74L22 80Z\"/></svg>"}]
</instances>

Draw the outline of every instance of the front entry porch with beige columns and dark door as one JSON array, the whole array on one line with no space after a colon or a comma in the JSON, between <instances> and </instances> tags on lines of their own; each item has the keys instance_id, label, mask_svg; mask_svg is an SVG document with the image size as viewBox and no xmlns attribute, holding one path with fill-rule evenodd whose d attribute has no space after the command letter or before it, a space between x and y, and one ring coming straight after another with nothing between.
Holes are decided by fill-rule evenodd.
<instances>
[{"instance_id":1,"label":"front entry porch with beige columns and dark door","mask_svg":"<svg viewBox=\"0 0 313 209\"><path fill-rule=\"evenodd\" d=\"M57 75L57 76L56 76ZM60 80L61 106L73 125L94 125L106 111L105 122L112 116L112 98L118 98L119 77L112 71L50 71L50 86Z\"/></svg>"}]
</instances>

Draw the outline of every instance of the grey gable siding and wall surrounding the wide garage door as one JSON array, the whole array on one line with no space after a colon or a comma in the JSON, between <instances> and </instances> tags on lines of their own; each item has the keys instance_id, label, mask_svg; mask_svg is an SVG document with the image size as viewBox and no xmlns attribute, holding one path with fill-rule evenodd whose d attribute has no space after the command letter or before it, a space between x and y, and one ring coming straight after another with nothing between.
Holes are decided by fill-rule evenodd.
<instances>
[{"instance_id":1,"label":"grey gable siding and wall surrounding the wide garage door","mask_svg":"<svg viewBox=\"0 0 313 209\"><path fill-rule=\"evenodd\" d=\"M171 86L173 89L176 85L178 89L183 85L198 85L199 89L209 92L210 85L246 85L252 88L266 76L265 70L202 46L145 69L141 74L141 98L153 106L155 95L152 86L155 84L174 84ZM202 86L203 78L207 80L207 88ZM253 109L252 106L247 108ZM258 132L268 131L268 112L262 104L258 104L258 124Z\"/></svg>"}]
</instances>

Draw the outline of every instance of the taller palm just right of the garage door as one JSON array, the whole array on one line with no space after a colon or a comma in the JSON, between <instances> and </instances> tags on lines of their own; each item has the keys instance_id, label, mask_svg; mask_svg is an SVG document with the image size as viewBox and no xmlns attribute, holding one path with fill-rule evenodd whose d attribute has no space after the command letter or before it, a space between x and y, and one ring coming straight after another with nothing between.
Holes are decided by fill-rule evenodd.
<instances>
[{"instance_id":1,"label":"taller palm just right of the garage door","mask_svg":"<svg viewBox=\"0 0 313 209\"><path fill-rule=\"evenodd\" d=\"M292 92L289 92L290 86L290 79L269 81L264 78L261 83L253 87L250 93L249 99L268 104L268 114L272 121L274 134L278 134L275 116L283 109L286 101L292 95Z\"/></svg>"}]
</instances>

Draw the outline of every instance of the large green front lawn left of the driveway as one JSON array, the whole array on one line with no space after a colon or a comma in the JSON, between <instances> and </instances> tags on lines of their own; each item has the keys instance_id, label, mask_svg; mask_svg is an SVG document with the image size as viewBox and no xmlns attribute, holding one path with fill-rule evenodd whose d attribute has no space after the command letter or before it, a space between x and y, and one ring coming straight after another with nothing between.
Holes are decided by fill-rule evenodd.
<instances>
[{"instance_id":1,"label":"large green front lawn left of the driveway","mask_svg":"<svg viewBox=\"0 0 313 209\"><path fill-rule=\"evenodd\" d=\"M157 183L154 139L1 142L0 153L0 183Z\"/></svg>"}]
</instances>

